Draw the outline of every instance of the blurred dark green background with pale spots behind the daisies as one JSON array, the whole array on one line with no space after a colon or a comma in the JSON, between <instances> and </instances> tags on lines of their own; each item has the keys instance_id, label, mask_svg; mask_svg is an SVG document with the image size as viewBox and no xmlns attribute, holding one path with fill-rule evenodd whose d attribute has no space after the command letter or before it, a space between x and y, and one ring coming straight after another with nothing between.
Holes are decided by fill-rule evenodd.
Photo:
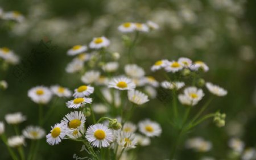
<instances>
[{"instance_id":1,"label":"blurred dark green background with pale spots behind the daisies","mask_svg":"<svg viewBox=\"0 0 256 160\"><path fill-rule=\"evenodd\" d=\"M188 57L206 62L210 70L205 74L205 80L228 90L228 95L214 99L209 109L227 114L226 127L217 128L208 120L188 135L202 136L213 143L213 149L202 155L221 159L227 153L227 143L232 136L240 137L246 146L255 147L256 1L232 1L238 7L215 2L217 5L209 0L1 1L0 7L4 11L17 10L26 20L11 24L0 22L0 47L13 49L21 59L18 66L23 69L19 78L14 73L17 66L10 66L6 74L0 74L0 78L9 83L8 89L0 92L0 120L6 113L20 111L28 119L20 128L36 124L38 106L27 96L31 87L59 84L73 89L81 85L79 75L65 72L71 61L66 54L69 48L88 44L93 37L104 35L112 42L109 50L119 52L121 61L126 62L127 58L122 57L122 34L117 27L127 21L143 23L152 20L159 24L160 30L143 34L135 50L137 64L143 66L148 75L154 75L150 66L156 60ZM222 5L218 6L217 2ZM28 57L40 40L51 40L56 50L47 57L37 58L31 65ZM160 75L155 76L161 79ZM44 125L47 132L69 111L65 102L64 99L57 102L57 112ZM147 108L139 108L134 116L134 122L150 117L163 128L161 137L154 138L150 146L139 149L138 159L165 159L169 155L173 133L170 126L165 125L165 108L159 103L162 102L158 99L152 100ZM237 124L235 128L241 127L239 132L232 132L232 124ZM7 129L13 133L10 127ZM81 144L76 142L63 141L60 145L49 146L42 141L41 145L39 159L72 159L74 153L82 155L79 153ZM0 150L0 159L8 159L2 143ZM184 149L184 146L180 146L179 151L182 152L179 159L199 159L202 156Z\"/></svg>"}]
</instances>

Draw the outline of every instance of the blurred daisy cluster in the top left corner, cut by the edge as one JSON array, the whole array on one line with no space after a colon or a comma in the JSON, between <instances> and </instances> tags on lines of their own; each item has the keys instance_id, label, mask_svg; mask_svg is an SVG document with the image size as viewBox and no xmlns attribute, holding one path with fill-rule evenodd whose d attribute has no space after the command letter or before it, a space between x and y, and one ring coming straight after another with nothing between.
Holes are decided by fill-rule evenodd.
<instances>
[{"instance_id":1,"label":"blurred daisy cluster in the top left corner, cut by the edge","mask_svg":"<svg viewBox=\"0 0 256 160\"><path fill-rule=\"evenodd\" d=\"M22 22L24 20L24 16L20 14L19 11L3 11L0 7L0 19L4 20L14 20L15 22Z\"/></svg>"}]
</instances>

